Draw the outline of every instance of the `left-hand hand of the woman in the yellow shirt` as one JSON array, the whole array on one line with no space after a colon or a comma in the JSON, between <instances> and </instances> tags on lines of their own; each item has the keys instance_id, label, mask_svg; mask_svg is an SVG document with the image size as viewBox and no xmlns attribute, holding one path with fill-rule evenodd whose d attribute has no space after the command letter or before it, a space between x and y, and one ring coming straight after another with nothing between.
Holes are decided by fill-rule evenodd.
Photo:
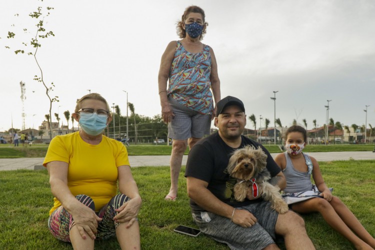
<instances>
[{"instance_id":1,"label":"left-hand hand of the woman in the yellow shirt","mask_svg":"<svg viewBox=\"0 0 375 250\"><path fill-rule=\"evenodd\" d=\"M71 211L71 216L83 239L86 239L86 233L92 239L96 238L97 222L102 220L102 218L99 218L95 211L80 203L79 206L76 206L76 208Z\"/></svg>"}]
</instances>

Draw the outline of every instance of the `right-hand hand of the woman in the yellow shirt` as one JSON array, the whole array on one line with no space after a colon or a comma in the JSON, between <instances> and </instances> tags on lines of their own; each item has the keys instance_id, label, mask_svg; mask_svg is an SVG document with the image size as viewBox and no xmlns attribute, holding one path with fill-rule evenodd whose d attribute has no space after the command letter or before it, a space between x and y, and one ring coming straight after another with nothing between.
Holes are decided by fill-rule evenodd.
<instances>
[{"instance_id":1,"label":"right-hand hand of the woman in the yellow shirt","mask_svg":"<svg viewBox=\"0 0 375 250\"><path fill-rule=\"evenodd\" d=\"M142 199L140 198L140 196L129 199L116 209L116 212L118 213L113 217L113 220L118 223L124 223L128 221L128 223L126 224L126 228L129 228L136 220L136 216L138 215L141 203Z\"/></svg>"}]
</instances>

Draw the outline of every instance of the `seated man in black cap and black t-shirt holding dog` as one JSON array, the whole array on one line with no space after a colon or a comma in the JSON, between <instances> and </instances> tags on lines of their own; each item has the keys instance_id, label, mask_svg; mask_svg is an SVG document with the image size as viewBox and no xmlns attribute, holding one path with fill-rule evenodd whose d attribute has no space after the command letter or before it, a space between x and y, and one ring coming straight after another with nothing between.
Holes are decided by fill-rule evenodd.
<instances>
[{"instance_id":1,"label":"seated man in black cap and black t-shirt holding dog","mask_svg":"<svg viewBox=\"0 0 375 250\"><path fill-rule=\"evenodd\" d=\"M225 172L231 153L245 145L261 147L267 154L270 183L283 189L286 185L281 169L259 143L241 135L246 125L241 100L226 96L216 104L215 125L218 132L192 147L186 164L187 192L195 223L203 233L227 244L231 249L278 249L275 234L284 237L288 249L314 249L304 228L303 219L292 211L278 214L260 194L232 198L232 179Z\"/></svg>"}]
</instances>

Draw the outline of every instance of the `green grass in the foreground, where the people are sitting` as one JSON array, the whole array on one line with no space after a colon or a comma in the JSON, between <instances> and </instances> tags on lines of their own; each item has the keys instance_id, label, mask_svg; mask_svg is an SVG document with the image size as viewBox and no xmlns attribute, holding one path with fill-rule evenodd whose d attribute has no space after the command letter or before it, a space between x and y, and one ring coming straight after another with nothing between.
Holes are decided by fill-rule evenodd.
<instances>
[{"instance_id":1,"label":"green grass in the foreground, where the people are sitting","mask_svg":"<svg viewBox=\"0 0 375 250\"><path fill-rule=\"evenodd\" d=\"M319 162L333 194L353 211L371 235L375 235L375 167L372 160ZM190 237L173 232L178 224L192 222L184 168L180 173L178 199L163 198L169 189L169 167L136 167L132 173L143 204L139 213L142 249L227 249L205 235ZM53 238L47 229L53 204L46 170L1 171L0 249L71 249ZM303 215L316 249L353 249L318 213ZM283 244L281 249L285 249ZM119 249L115 238L98 241L95 249Z\"/></svg>"}]
</instances>

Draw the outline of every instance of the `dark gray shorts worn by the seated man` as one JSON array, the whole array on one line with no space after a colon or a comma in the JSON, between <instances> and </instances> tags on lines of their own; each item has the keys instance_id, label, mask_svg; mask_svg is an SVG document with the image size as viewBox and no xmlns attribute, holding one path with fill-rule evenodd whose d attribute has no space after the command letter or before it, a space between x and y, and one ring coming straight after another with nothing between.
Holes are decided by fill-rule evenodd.
<instances>
[{"instance_id":1,"label":"dark gray shorts worn by the seated man","mask_svg":"<svg viewBox=\"0 0 375 250\"><path fill-rule=\"evenodd\" d=\"M257 223L244 228L230 219L211 212L192 213L200 230L214 240L227 244L230 249L263 249L274 243L278 213L270 207L270 202L261 201L236 209L246 209L257 219Z\"/></svg>"}]
</instances>

